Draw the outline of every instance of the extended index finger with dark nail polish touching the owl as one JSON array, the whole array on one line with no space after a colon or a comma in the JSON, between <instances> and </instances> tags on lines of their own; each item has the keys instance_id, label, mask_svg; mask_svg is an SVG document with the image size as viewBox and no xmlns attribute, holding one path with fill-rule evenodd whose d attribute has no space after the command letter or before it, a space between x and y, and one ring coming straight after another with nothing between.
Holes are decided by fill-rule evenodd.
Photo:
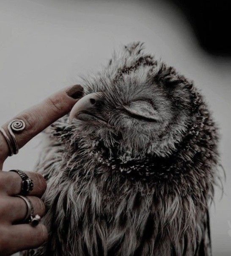
<instances>
[{"instance_id":1,"label":"extended index finger with dark nail polish touching the owl","mask_svg":"<svg viewBox=\"0 0 231 256\"><path fill-rule=\"evenodd\" d=\"M14 134L19 148L23 147L30 139L43 131L47 126L67 114L74 104L80 99L84 91L81 85L70 86L43 100L41 103L16 115L14 119L21 119L25 122L25 129ZM9 121L11 122L11 120ZM8 137L8 123L2 127ZM5 137L0 133L0 159L4 161L9 154L8 144Z\"/></svg>"}]
</instances>

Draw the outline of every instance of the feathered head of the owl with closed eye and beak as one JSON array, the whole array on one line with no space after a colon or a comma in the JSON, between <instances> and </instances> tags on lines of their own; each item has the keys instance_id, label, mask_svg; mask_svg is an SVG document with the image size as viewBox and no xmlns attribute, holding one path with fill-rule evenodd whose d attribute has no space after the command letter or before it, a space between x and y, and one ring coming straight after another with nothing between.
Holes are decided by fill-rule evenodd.
<instances>
[{"instance_id":1,"label":"feathered head of the owl with closed eye and beak","mask_svg":"<svg viewBox=\"0 0 231 256\"><path fill-rule=\"evenodd\" d=\"M85 96L71 110L77 134L125 155L168 156L193 123L192 82L144 52L124 46L107 67L82 83Z\"/></svg>"}]
</instances>

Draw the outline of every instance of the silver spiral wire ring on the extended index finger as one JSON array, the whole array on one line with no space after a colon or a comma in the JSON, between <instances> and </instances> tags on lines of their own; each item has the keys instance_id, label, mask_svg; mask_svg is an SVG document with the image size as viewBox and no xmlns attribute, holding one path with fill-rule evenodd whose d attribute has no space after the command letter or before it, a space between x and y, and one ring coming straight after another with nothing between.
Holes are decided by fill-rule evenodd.
<instances>
[{"instance_id":1,"label":"silver spiral wire ring on the extended index finger","mask_svg":"<svg viewBox=\"0 0 231 256\"><path fill-rule=\"evenodd\" d=\"M25 128L25 126L26 126L25 122L21 119L12 120L7 126L8 132L11 135L10 138L6 134L5 130L2 127L0 127L0 132L3 134L5 140L8 144L8 147L10 149L10 153L9 153L10 156L12 156L13 154L16 155L19 152L19 146L16 141L14 132L17 133L17 132L22 131Z\"/></svg>"}]
</instances>

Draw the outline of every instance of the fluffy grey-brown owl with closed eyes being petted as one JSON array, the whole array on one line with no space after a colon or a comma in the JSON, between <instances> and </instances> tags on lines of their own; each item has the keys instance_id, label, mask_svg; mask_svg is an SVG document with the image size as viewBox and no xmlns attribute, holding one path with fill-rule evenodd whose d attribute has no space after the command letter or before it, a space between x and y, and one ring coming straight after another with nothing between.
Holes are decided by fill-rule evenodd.
<instances>
[{"instance_id":1,"label":"fluffy grey-brown owl with closed eyes being petted","mask_svg":"<svg viewBox=\"0 0 231 256\"><path fill-rule=\"evenodd\" d=\"M33 255L211 255L217 128L193 82L135 42L51 125L48 242Z\"/></svg>"}]
</instances>

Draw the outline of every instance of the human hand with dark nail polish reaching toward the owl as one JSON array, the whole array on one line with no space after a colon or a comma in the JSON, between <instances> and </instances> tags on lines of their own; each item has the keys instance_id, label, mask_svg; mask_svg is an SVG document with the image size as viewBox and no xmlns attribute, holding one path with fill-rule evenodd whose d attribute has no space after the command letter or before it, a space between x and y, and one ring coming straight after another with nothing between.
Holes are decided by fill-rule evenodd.
<instances>
[{"instance_id":1,"label":"human hand with dark nail polish reaching toward the owl","mask_svg":"<svg viewBox=\"0 0 231 256\"><path fill-rule=\"evenodd\" d=\"M45 206L40 198L46 190L45 179L38 173L25 172L27 181L33 181L33 189L30 187L25 199L16 197L22 194L25 186L22 185L22 178L18 173L1 171L5 159L11 151L16 153L17 146L23 147L44 128L67 114L82 95L82 86L71 86L18 114L14 120L21 120L22 124L25 123L25 128L19 132L13 129L13 135L8 130L11 121L2 126L4 131L0 132L0 255L11 255L20 250L36 248L48 238L47 228L43 224L33 226L28 222L22 223L30 210L26 199L33 207L34 215L44 215Z\"/></svg>"}]
</instances>

